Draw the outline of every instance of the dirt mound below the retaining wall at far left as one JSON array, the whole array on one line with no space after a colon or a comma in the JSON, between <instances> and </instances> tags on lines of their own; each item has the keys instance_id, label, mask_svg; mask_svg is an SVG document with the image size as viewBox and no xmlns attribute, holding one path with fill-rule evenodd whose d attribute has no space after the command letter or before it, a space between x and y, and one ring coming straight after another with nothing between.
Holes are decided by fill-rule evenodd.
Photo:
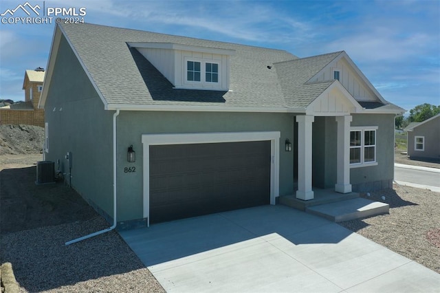
<instances>
[{"instance_id":1,"label":"dirt mound below the retaining wall at far left","mask_svg":"<svg viewBox=\"0 0 440 293\"><path fill-rule=\"evenodd\" d=\"M0 155L43 153L44 128L34 125L0 125Z\"/></svg>"}]
</instances>

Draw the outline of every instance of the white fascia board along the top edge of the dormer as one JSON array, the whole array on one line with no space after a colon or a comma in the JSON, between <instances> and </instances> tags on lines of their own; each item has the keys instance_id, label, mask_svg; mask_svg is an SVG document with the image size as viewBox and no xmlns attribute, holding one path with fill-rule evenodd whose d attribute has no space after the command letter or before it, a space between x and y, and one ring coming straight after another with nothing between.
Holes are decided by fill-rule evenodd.
<instances>
[{"instance_id":1,"label":"white fascia board along the top edge of the dormer","mask_svg":"<svg viewBox=\"0 0 440 293\"><path fill-rule=\"evenodd\" d=\"M166 49L166 50L181 50L198 53L219 54L232 56L235 50L219 49L214 47L200 47L193 45L182 45L176 43L142 43L142 42L127 42L127 45L135 48L151 48L151 49Z\"/></svg>"}]
</instances>

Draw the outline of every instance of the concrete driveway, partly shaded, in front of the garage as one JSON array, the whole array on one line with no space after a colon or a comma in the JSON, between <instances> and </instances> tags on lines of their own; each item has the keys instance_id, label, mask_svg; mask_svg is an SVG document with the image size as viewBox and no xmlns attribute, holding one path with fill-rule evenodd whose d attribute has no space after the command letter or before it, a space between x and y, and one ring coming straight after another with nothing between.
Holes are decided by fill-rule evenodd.
<instances>
[{"instance_id":1,"label":"concrete driveway, partly shaded, in front of the garage","mask_svg":"<svg viewBox=\"0 0 440 293\"><path fill-rule=\"evenodd\" d=\"M167 292L440 292L440 274L286 206L120 235Z\"/></svg>"}]
</instances>

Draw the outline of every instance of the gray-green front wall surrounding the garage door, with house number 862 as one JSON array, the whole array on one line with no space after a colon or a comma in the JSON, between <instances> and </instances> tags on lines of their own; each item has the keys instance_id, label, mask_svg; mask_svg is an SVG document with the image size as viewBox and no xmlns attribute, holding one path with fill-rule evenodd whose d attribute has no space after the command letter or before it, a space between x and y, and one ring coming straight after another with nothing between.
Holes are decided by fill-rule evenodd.
<instances>
[{"instance_id":1,"label":"gray-green front wall surrounding the garage door, with house number 862","mask_svg":"<svg viewBox=\"0 0 440 293\"><path fill-rule=\"evenodd\" d=\"M285 151L285 139L293 140L294 116L288 113L143 112L122 111L118 116L118 221L142 218L142 134L281 131L280 195L294 193L293 152ZM126 151L133 144L136 162L128 163ZM135 173L124 173L125 167Z\"/></svg>"}]
</instances>

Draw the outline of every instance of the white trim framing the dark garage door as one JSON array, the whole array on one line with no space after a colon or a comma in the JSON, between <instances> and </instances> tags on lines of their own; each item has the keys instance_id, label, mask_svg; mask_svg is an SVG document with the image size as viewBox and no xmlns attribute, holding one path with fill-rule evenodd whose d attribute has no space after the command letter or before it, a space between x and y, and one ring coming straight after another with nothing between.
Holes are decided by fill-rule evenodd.
<instances>
[{"instance_id":1,"label":"white trim framing the dark garage door","mask_svg":"<svg viewBox=\"0 0 440 293\"><path fill-rule=\"evenodd\" d=\"M270 204L279 195L280 131L214 132L214 133L161 133L142 134L144 152L144 218L150 226L150 146L166 144L208 144L217 142L252 142L270 140Z\"/></svg>"}]
</instances>

